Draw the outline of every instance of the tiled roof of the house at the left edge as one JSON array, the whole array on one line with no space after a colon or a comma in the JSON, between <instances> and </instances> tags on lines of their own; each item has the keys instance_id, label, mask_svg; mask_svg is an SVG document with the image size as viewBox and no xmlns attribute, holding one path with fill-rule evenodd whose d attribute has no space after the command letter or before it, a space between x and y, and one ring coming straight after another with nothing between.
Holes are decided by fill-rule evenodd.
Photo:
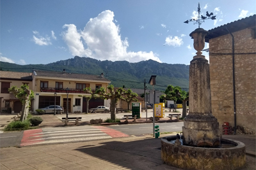
<instances>
[{"instance_id":1,"label":"tiled roof of the house at the left edge","mask_svg":"<svg viewBox=\"0 0 256 170\"><path fill-rule=\"evenodd\" d=\"M13 71L0 71L0 79L2 80L26 80L32 81L32 73L22 73Z\"/></svg>"}]
</instances>

